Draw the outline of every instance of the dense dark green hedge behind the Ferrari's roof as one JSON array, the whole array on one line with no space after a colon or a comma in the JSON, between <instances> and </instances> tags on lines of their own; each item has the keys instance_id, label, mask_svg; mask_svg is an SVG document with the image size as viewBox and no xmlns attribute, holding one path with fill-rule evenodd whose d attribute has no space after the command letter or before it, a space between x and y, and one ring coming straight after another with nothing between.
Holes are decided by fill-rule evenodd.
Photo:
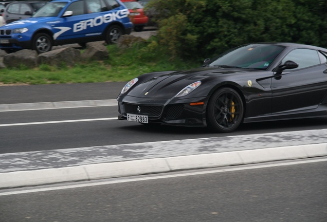
<instances>
[{"instance_id":1,"label":"dense dark green hedge behind the Ferrari's roof","mask_svg":"<svg viewBox=\"0 0 327 222\"><path fill-rule=\"evenodd\" d=\"M327 47L327 1L154 0L157 43L173 57L207 58L251 42Z\"/></svg>"}]
</instances>

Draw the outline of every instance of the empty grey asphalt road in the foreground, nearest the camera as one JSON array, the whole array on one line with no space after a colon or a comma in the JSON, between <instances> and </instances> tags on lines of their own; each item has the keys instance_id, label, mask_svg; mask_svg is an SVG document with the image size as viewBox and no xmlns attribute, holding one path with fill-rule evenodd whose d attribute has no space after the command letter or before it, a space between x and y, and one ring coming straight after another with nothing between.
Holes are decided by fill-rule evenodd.
<instances>
[{"instance_id":1,"label":"empty grey asphalt road in the foreground, nearest the camera","mask_svg":"<svg viewBox=\"0 0 327 222\"><path fill-rule=\"evenodd\" d=\"M0 193L1 221L327 220L327 161L265 165L65 184L70 189L15 189Z\"/></svg>"}]
</instances>

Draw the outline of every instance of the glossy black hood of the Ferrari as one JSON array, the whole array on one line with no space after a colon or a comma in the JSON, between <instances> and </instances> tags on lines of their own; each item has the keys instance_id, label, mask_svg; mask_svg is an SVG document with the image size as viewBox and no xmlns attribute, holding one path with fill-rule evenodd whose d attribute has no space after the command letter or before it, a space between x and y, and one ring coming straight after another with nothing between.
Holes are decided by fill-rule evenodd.
<instances>
[{"instance_id":1,"label":"glossy black hood of the Ferrari","mask_svg":"<svg viewBox=\"0 0 327 222\"><path fill-rule=\"evenodd\" d=\"M142 98L173 98L180 90L186 86L196 82L202 81L200 87L208 84L206 79L213 79L222 75L244 75L246 72L257 72L253 69L231 69L231 68L197 68L187 71L175 71L167 73L158 73L157 76L141 81L130 89L129 96ZM213 78L212 78L213 77ZM218 84L219 80L216 80ZM212 81L210 82L212 84ZM194 92L198 90L195 89ZM191 94L190 94L191 96ZM193 94L192 96L195 96Z\"/></svg>"}]
</instances>

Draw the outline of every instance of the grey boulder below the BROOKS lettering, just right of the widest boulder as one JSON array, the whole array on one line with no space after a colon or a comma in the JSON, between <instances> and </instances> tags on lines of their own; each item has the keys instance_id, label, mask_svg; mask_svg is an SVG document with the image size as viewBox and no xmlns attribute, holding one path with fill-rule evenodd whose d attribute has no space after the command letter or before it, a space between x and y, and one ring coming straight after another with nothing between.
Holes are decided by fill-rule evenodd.
<instances>
[{"instance_id":1,"label":"grey boulder below the BROOKS lettering, just right of the widest boulder","mask_svg":"<svg viewBox=\"0 0 327 222\"><path fill-rule=\"evenodd\" d=\"M83 60L105 60L109 57L109 52L107 47L105 47L105 42L90 42L86 43L86 49L82 53L81 58Z\"/></svg>"}]
</instances>

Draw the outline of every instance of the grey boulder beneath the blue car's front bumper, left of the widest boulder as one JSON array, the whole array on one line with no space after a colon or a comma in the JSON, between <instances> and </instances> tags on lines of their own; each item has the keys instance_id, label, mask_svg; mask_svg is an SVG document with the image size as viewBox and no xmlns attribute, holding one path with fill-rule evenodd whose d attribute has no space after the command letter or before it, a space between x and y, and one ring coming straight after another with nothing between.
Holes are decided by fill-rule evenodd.
<instances>
[{"instance_id":1,"label":"grey boulder beneath the blue car's front bumper, left of the widest boulder","mask_svg":"<svg viewBox=\"0 0 327 222\"><path fill-rule=\"evenodd\" d=\"M36 51L23 49L6 54L3 63L6 67L17 67L17 65L22 64L29 68L35 68L38 66L37 57L38 53Z\"/></svg>"}]
</instances>

